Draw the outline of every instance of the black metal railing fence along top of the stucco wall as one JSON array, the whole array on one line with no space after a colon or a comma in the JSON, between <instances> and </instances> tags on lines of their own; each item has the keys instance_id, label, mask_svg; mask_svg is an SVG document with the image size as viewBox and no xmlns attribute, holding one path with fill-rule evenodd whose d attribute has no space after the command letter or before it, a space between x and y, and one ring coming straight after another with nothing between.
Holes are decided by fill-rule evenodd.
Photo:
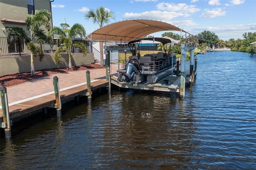
<instances>
[{"instance_id":1,"label":"black metal railing fence along top of the stucco wall","mask_svg":"<svg viewBox=\"0 0 256 170\"><path fill-rule=\"evenodd\" d=\"M54 54L56 49L63 45L59 42L58 39L53 40L53 46L51 47L49 44L42 44L42 43L36 43L36 39L33 39L33 42L36 44L37 47L40 47L42 51L44 51L44 54ZM94 55L97 53L97 50L90 45L90 43L87 43L86 41L83 42L88 49L89 53L94 53ZM71 53L81 53L81 50L79 48L70 49ZM66 54L67 52L62 52L63 54ZM11 57L11 56L26 56L30 55L30 51L28 50L28 47L26 46L25 40L23 38L10 38L7 37L0 37L0 57ZM97 55L99 55L97 53ZM96 58L98 60L98 58ZM100 57L99 57L100 59Z\"/></svg>"}]
</instances>

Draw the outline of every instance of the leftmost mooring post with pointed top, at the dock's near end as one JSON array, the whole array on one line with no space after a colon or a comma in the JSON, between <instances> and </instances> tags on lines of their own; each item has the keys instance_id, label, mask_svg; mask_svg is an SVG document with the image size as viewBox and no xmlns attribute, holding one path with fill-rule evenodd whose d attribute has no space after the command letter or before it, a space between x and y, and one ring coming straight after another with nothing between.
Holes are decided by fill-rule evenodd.
<instances>
[{"instance_id":1,"label":"leftmost mooring post with pointed top, at the dock's near end","mask_svg":"<svg viewBox=\"0 0 256 170\"><path fill-rule=\"evenodd\" d=\"M9 107L8 107L7 90L4 85L0 87L0 95L1 95L1 103L2 103L3 120L4 120L1 127L4 128L5 138L10 138L12 137L11 123L10 123L10 115L9 115Z\"/></svg>"}]
</instances>

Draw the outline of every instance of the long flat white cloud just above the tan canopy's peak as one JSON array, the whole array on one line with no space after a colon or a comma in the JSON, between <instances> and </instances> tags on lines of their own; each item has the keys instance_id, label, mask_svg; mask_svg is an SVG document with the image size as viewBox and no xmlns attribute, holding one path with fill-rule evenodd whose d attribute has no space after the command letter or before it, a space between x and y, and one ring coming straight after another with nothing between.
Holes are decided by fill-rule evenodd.
<instances>
[{"instance_id":1,"label":"long flat white cloud just above the tan canopy's peak","mask_svg":"<svg viewBox=\"0 0 256 170\"><path fill-rule=\"evenodd\" d=\"M168 11L146 11L142 13L125 13L123 18L125 19L154 19L154 20L171 20L179 16L188 17L189 14L178 13L178 12L168 12Z\"/></svg>"}]
</instances>

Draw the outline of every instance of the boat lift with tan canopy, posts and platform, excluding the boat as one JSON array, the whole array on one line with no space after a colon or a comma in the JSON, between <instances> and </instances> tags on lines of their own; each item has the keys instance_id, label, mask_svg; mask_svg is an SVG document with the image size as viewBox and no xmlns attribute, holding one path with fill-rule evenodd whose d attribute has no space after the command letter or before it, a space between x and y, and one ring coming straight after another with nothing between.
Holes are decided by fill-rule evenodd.
<instances>
[{"instance_id":1,"label":"boat lift with tan canopy, posts and platform, excluding the boat","mask_svg":"<svg viewBox=\"0 0 256 170\"><path fill-rule=\"evenodd\" d=\"M130 42L133 40L141 39L144 36L149 34L160 32L160 31L178 31L180 32L181 37L185 36L185 43L181 44L181 60L180 60L180 76L171 76L176 79L172 80L173 83L168 85L167 87L163 87L164 85L159 85L158 82L154 84L148 85L126 85L122 83L115 83L116 78L112 76L110 78L110 51L112 50L128 50L128 47L123 46L110 46L105 47L106 54L106 80L110 81L110 84L116 84L118 87L125 87L132 89L148 89L148 90L162 90L162 91L170 91L180 93L180 97L184 99L185 96L185 84L186 82L193 83L196 78L196 59L194 59L194 48L195 48L195 39L194 36L189 32L179 28L178 26L174 26L172 24L168 24L166 22L157 21L157 20L145 20L145 19L137 19L137 20L124 20L120 22L115 22L99 28L98 30L92 32L88 35L85 40L97 40L97 41L112 41L112 42ZM182 33L185 35L182 36ZM190 50L190 69L186 70L186 52ZM179 70L177 70L179 71ZM167 77L166 77L167 78Z\"/></svg>"}]
</instances>

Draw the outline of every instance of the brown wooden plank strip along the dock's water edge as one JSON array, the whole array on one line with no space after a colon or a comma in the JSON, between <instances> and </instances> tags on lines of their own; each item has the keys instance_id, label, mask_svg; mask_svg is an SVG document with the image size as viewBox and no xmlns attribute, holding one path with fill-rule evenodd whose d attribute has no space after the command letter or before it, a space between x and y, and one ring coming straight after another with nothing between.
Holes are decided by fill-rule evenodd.
<instances>
[{"instance_id":1,"label":"brown wooden plank strip along the dock's water edge","mask_svg":"<svg viewBox=\"0 0 256 170\"><path fill-rule=\"evenodd\" d=\"M94 91L102 87L107 87L108 84L109 83L106 80L98 80L98 81L91 82L91 90ZM78 87L61 91L60 99L61 101L67 101L68 99L72 99L76 96L84 95L86 92L87 92L87 85L80 85ZM55 100L55 95L53 93L50 95L46 95L43 97L39 97L36 99L24 101L22 103L9 106L10 119L14 119L26 114L30 114L44 107L55 105L55 103L56 103L56 100ZM2 115L2 109L0 109L0 123L2 122L3 122L3 115Z\"/></svg>"}]
</instances>

